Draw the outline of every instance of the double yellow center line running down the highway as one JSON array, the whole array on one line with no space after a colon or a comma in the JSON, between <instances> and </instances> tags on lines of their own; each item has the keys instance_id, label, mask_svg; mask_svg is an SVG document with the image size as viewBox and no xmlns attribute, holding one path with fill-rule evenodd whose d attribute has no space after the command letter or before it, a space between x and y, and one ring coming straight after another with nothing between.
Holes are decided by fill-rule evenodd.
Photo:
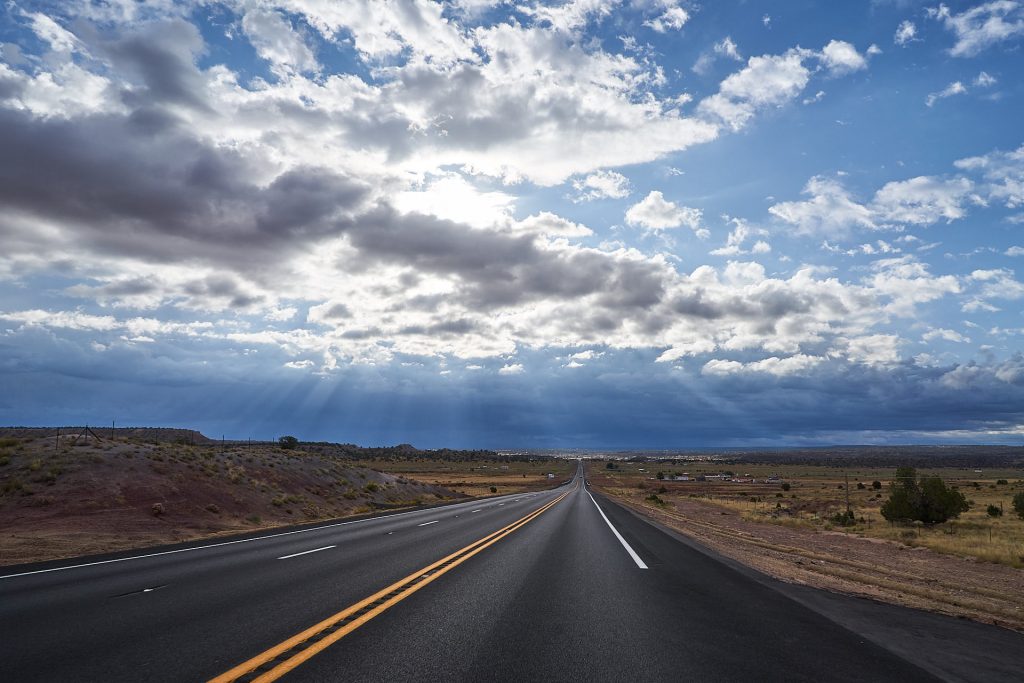
<instances>
[{"instance_id":1,"label":"double yellow center line running down the highway","mask_svg":"<svg viewBox=\"0 0 1024 683\"><path fill-rule=\"evenodd\" d=\"M414 571L401 581L391 584L370 597L342 609L337 614L329 616L305 631L292 636L288 640L257 654L253 658L243 661L230 671L211 679L210 683L234 683L237 681L267 683L268 681L278 680L303 661L324 651L441 574L451 571L473 555L498 543L513 531L522 528L561 502L569 493L568 490L565 492L555 500L541 506L524 517L520 517L508 526L488 533L465 548L457 550L446 557L442 557L433 564Z\"/></svg>"}]
</instances>

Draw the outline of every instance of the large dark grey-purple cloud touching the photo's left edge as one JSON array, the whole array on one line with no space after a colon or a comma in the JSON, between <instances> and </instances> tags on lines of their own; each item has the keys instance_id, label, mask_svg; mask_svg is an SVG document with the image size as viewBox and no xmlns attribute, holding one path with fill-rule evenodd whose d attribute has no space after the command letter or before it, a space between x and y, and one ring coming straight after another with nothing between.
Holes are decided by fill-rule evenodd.
<instances>
[{"instance_id":1,"label":"large dark grey-purple cloud touching the photo's left edge","mask_svg":"<svg viewBox=\"0 0 1024 683\"><path fill-rule=\"evenodd\" d=\"M308 167L261 186L237 152L137 123L0 110L0 206L60 223L103 252L244 266L338 234L369 191Z\"/></svg>"}]
</instances>

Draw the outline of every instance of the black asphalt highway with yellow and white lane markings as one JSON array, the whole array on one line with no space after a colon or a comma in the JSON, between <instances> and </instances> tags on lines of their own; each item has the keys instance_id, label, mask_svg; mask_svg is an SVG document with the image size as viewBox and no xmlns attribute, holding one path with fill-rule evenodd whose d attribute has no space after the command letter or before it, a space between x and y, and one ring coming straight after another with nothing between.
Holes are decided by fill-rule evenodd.
<instances>
[{"instance_id":1,"label":"black asphalt highway with yellow and white lane markings","mask_svg":"<svg viewBox=\"0 0 1024 683\"><path fill-rule=\"evenodd\" d=\"M1024 637L787 587L564 485L0 569L5 681L1024 680Z\"/></svg>"}]
</instances>

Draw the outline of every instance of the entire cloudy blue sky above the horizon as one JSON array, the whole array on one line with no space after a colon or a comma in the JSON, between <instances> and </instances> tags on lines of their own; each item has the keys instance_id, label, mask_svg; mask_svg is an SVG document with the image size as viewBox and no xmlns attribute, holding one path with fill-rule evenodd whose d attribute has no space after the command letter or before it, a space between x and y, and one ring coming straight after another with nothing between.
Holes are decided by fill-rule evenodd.
<instances>
[{"instance_id":1,"label":"entire cloudy blue sky above the horizon","mask_svg":"<svg viewBox=\"0 0 1024 683\"><path fill-rule=\"evenodd\" d=\"M0 423L1024 436L1024 2L0 11Z\"/></svg>"}]
</instances>

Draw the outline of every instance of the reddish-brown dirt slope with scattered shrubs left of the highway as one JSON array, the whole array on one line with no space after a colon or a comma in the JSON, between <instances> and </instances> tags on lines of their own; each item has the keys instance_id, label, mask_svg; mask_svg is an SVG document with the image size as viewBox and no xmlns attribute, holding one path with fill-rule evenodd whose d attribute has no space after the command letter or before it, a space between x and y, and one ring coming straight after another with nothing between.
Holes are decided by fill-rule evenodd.
<instances>
[{"instance_id":1,"label":"reddish-brown dirt slope with scattered shrubs left of the highway","mask_svg":"<svg viewBox=\"0 0 1024 683\"><path fill-rule=\"evenodd\" d=\"M321 453L0 438L0 564L461 498Z\"/></svg>"}]
</instances>

